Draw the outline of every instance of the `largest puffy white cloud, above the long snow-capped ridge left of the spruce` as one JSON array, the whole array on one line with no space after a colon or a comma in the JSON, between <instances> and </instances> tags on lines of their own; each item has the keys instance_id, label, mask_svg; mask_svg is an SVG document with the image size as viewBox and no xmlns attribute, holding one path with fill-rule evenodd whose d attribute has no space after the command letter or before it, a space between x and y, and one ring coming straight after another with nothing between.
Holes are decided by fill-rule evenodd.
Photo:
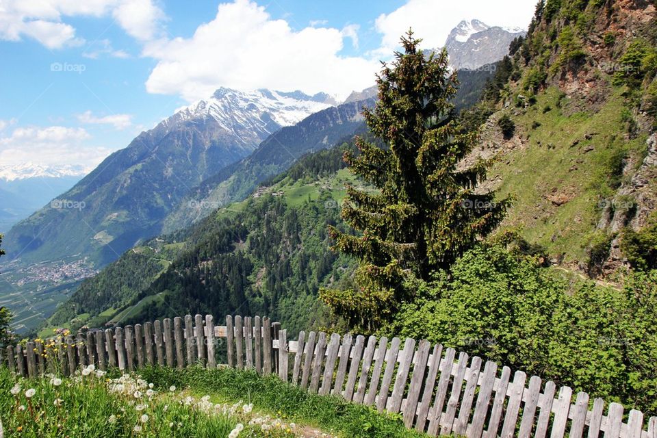
<instances>
[{"instance_id":1,"label":"largest puffy white cloud, above the long snow-capped ridge left of the spruce","mask_svg":"<svg viewBox=\"0 0 657 438\"><path fill-rule=\"evenodd\" d=\"M355 28L346 32L353 40ZM339 55L344 38L334 28L294 31L252 1L222 3L216 17L191 38L145 45L144 55L159 60L146 89L181 94L188 101L207 97L219 86L346 95L372 85L379 65Z\"/></svg>"}]
</instances>

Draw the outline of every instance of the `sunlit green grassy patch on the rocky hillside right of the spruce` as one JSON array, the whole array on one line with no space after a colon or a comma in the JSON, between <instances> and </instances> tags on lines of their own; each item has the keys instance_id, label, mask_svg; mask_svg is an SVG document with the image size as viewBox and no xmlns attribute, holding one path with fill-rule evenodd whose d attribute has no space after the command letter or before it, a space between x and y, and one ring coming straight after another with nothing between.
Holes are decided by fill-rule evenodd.
<instances>
[{"instance_id":1,"label":"sunlit green grassy patch on the rocky hillside right of the spruce","mask_svg":"<svg viewBox=\"0 0 657 438\"><path fill-rule=\"evenodd\" d=\"M601 206L620 182L617 159L642 157L646 146L645 136L626 140L621 90L595 112L571 112L570 105L559 90L548 88L513 116L524 144L500 155L489 180L499 181L500 196L515 197L503 228L519 229L550 256L576 265L586 261L587 246L602 233L596 229Z\"/></svg>"}]
</instances>

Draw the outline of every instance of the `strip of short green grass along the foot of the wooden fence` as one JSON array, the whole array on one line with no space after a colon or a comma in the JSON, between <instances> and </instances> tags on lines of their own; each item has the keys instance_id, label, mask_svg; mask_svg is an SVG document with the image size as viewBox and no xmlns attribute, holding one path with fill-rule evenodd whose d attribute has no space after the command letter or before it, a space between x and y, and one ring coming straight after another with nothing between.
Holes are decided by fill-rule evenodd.
<instances>
[{"instance_id":1,"label":"strip of short green grass along the foot of the wooden fence","mask_svg":"<svg viewBox=\"0 0 657 438\"><path fill-rule=\"evenodd\" d=\"M256 409L276 413L288 421L312 424L349 438L424 437L405 428L400 415L382 415L370 407L348 403L334 396L318 396L275 376L216 368L144 368L139 371L155 388L170 385L188 388L194 394L213 394L226 400L244 400Z\"/></svg>"}]
</instances>

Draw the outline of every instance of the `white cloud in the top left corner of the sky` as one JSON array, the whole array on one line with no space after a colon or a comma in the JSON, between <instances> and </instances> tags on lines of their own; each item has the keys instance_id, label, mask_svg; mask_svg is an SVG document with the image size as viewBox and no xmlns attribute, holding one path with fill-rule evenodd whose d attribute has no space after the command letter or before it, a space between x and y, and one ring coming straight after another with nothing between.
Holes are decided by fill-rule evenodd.
<instances>
[{"instance_id":1,"label":"white cloud in the top left corner of the sky","mask_svg":"<svg viewBox=\"0 0 657 438\"><path fill-rule=\"evenodd\" d=\"M112 13L127 34L138 40L156 36L164 12L155 0L1 0L0 40L34 38L49 49L84 42L64 17L105 16Z\"/></svg>"}]
</instances>

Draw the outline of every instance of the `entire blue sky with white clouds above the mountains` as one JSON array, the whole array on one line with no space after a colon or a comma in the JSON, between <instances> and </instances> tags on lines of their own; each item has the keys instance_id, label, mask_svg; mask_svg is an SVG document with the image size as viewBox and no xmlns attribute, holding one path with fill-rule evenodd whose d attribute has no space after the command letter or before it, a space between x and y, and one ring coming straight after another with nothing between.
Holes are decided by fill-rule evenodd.
<instances>
[{"instance_id":1,"label":"entire blue sky with white clouds above the mountains","mask_svg":"<svg viewBox=\"0 0 657 438\"><path fill-rule=\"evenodd\" d=\"M409 26L526 28L533 0L0 0L0 166L87 170L219 86L346 96Z\"/></svg>"}]
</instances>

